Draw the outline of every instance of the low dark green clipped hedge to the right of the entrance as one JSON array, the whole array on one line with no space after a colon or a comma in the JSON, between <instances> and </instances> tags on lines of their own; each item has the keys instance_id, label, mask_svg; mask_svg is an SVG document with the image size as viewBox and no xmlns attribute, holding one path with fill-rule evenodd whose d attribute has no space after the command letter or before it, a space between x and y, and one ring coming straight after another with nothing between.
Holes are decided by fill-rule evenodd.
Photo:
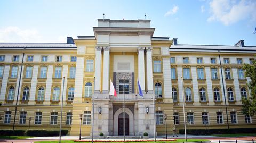
<instances>
[{"instance_id":1,"label":"low dark green clipped hedge to the right of the entrance","mask_svg":"<svg viewBox=\"0 0 256 143\"><path fill-rule=\"evenodd\" d=\"M231 129L187 129L187 134L204 135L204 134L231 134L231 133L256 133L256 128L231 128ZM183 129L179 130L180 134L185 134Z\"/></svg>"}]
</instances>

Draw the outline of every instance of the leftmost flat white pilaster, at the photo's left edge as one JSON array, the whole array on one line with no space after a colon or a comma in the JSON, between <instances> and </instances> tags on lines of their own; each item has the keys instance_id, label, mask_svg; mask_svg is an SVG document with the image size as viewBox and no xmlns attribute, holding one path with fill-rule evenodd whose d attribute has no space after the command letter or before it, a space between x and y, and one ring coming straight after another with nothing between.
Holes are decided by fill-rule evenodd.
<instances>
[{"instance_id":1,"label":"leftmost flat white pilaster, at the photo's left edge","mask_svg":"<svg viewBox=\"0 0 256 143\"><path fill-rule=\"evenodd\" d=\"M0 100L5 100L9 71L10 71L10 65L5 65L4 66L4 75L3 75L3 79L2 79ZM7 91L8 91L8 89L7 89Z\"/></svg>"}]
</instances>

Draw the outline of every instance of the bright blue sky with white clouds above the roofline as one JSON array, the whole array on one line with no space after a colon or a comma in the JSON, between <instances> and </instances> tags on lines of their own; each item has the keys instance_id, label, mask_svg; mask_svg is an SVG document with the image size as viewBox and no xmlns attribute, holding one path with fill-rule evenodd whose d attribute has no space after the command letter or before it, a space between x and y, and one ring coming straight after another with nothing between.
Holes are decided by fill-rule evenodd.
<instances>
[{"instance_id":1,"label":"bright blue sky with white clouds above the roofline","mask_svg":"<svg viewBox=\"0 0 256 143\"><path fill-rule=\"evenodd\" d=\"M0 42L66 42L93 36L97 19L151 20L178 44L256 46L256 0L1 0ZM255 33L255 34L254 34Z\"/></svg>"}]
</instances>

